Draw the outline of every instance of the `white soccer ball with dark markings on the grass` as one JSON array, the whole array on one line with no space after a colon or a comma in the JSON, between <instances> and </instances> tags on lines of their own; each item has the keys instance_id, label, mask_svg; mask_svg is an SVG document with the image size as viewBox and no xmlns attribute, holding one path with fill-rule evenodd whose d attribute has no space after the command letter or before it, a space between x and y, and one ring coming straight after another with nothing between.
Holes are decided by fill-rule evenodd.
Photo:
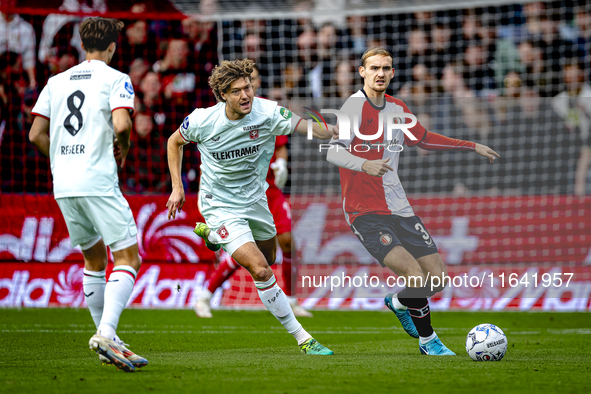
<instances>
[{"instance_id":1,"label":"white soccer ball with dark markings on the grass","mask_svg":"<svg viewBox=\"0 0 591 394\"><path fill-rule=\"evenodd\" d=\"M499 361L507 351L507 337L494 324L479 324L466 337L466 351L474 361Z\"/></svg>"}]
</instances>

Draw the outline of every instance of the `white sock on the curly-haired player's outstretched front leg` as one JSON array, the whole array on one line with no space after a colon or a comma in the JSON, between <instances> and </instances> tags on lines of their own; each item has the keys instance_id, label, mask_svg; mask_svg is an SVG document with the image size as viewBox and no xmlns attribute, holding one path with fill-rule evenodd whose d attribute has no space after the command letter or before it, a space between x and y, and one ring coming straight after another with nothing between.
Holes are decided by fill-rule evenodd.
<instances>
[{"instance_id":1,"label":"white sock on the curly-haired player's outstretched front leg","mask_svg":"<svg viewBox=\"0 0 591 394\"><path fill-rule=\"evenodd\" d=\"M300 322L298 322L293 315L285 293L279 286L277 286L275 275L273 275L268 281L254 281L254 284L265 307L277 318L277 320L279 320L287 332L293 335L298 341L298 345L312 337L306 332L306 330L304 330Z\"/></svg>"}]
</instances>

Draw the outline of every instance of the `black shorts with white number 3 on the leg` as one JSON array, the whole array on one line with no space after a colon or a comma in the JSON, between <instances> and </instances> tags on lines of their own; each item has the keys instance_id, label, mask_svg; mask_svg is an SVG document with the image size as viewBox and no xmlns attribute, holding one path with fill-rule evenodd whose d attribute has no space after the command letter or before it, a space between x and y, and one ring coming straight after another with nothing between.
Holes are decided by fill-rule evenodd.
<instances>
[{"instance_id":1,"label":"black shorts with white number 3 on the leg","mask_svg":"<svg viewBox=\"0 0 591 394\"><path fill-rule=\"evenodd\" d=\"M355 219L351 230L382 267L386 255L396 245L401 245L415 259L437 253L435 241L418 216L363 215Z\"/></svg>"}]
</instances>

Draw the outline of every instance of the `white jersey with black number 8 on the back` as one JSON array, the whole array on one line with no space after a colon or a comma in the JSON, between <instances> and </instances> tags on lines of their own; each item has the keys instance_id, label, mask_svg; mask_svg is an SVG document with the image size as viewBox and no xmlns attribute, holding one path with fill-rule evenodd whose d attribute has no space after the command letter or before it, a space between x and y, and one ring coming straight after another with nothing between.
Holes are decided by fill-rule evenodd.
<instances>
[{"instance_id":1,"label":"white jersey with black number 8 on the back","mask_svg":"<svg viewBox=\"0 0 591 394\"><path fill-rule=\"evenodd\" d=\"M32 112L50 121L55 198L115 194L112 112L133 112L133 100L129 77L100 60L86 60L49 79Z\"/></svg>"}]
</instances>

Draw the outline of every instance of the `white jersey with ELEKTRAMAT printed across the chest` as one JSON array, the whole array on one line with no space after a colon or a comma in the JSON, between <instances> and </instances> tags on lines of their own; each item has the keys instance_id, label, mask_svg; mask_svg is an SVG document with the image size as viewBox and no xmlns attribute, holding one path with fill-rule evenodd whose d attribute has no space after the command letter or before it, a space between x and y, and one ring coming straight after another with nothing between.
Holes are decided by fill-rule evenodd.
<instances>
[{"instance_id":1,"label":"white jersey with ELEKTRAMAT printed across the chest","mask_svg":"<svg viewBox=\"0 0 591 394\"><path fill-rule=\"evenodd\" d=\"M251 112L231 121L226 103L196 109L180 127L201 153L200 190L212 206L240 207L265 196L275 137L292 132L292 113L275 101L254 98Z\"/></svg>"}]
</instances>

